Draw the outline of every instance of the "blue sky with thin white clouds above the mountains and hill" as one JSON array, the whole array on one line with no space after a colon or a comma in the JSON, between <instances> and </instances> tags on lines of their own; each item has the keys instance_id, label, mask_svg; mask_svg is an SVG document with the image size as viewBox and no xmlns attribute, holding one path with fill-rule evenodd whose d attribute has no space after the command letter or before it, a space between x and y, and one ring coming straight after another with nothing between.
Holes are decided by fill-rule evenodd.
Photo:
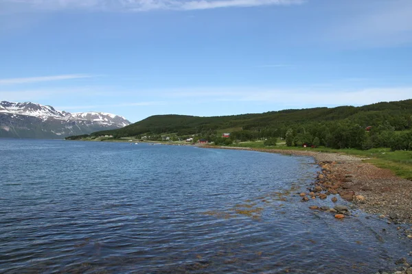
<instances>
[{"instance_id":1,"label":"blue sky with thin white clouds above the mountains and hill","mask_svg":"<svg viewBox=\"0 0 412 274\"><path fill-rule=\"evenodd\" d=\"M411 0L0 0L0 101L136 122L412 98Z\"/></svg>"}]
</instances>

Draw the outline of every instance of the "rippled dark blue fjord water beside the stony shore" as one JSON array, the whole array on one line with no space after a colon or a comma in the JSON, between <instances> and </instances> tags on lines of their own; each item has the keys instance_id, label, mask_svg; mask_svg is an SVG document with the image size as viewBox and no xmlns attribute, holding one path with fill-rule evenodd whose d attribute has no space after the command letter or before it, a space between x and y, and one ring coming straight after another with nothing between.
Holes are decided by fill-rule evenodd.
<instances>
[{"instance_id":1,"label":"rippled dark blue fjord water beside the stony shore","mask_svg":"<svg viewBox=\"0 0 412 274\"><path fill-rule=\"evenodd\" d=\"M0 273L373 273L410 249L300 202L311 158L0 139L0 166Z\"/></svg>"}]
</instances>

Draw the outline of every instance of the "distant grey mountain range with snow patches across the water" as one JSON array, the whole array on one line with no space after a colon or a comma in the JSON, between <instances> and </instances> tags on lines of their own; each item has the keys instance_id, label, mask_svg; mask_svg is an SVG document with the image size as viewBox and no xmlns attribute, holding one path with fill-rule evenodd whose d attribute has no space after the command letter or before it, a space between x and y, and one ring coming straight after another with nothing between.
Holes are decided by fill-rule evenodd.
<instances>
[{"instance_id":1,"label":"distant grey mountain range with snow patches across the water","mask_svg":"<svg viewBox=\"0 0 412 274\"><path fill-rule=\"evenodd\" d=\"M0 138L52 138L90 134L130 125L124 117L104 112L70 113L50 105L0 101Z\"/></svg>"}]
</instances>

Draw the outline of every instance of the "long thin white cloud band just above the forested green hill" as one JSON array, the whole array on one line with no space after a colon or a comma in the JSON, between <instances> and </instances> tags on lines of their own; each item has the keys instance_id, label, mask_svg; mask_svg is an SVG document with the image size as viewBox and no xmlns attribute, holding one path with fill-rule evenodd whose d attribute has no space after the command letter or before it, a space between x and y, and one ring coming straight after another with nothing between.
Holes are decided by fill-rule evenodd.
<instances>
[{"instance_id":1,"label":"long thin white cloud band just above the forested green hill","mask_svg":"<svg viewBox=\"0 0 412 274\"><path fill-rule=\"evenodd\" d=\"M277 105L367 105L378 101L412 99L412 87L363 88L334 90L325 88L194 88L190 91L170 92L168 96L194 97L198 103L210 101L270 103Z\"/></svg>"}]
</instances>

